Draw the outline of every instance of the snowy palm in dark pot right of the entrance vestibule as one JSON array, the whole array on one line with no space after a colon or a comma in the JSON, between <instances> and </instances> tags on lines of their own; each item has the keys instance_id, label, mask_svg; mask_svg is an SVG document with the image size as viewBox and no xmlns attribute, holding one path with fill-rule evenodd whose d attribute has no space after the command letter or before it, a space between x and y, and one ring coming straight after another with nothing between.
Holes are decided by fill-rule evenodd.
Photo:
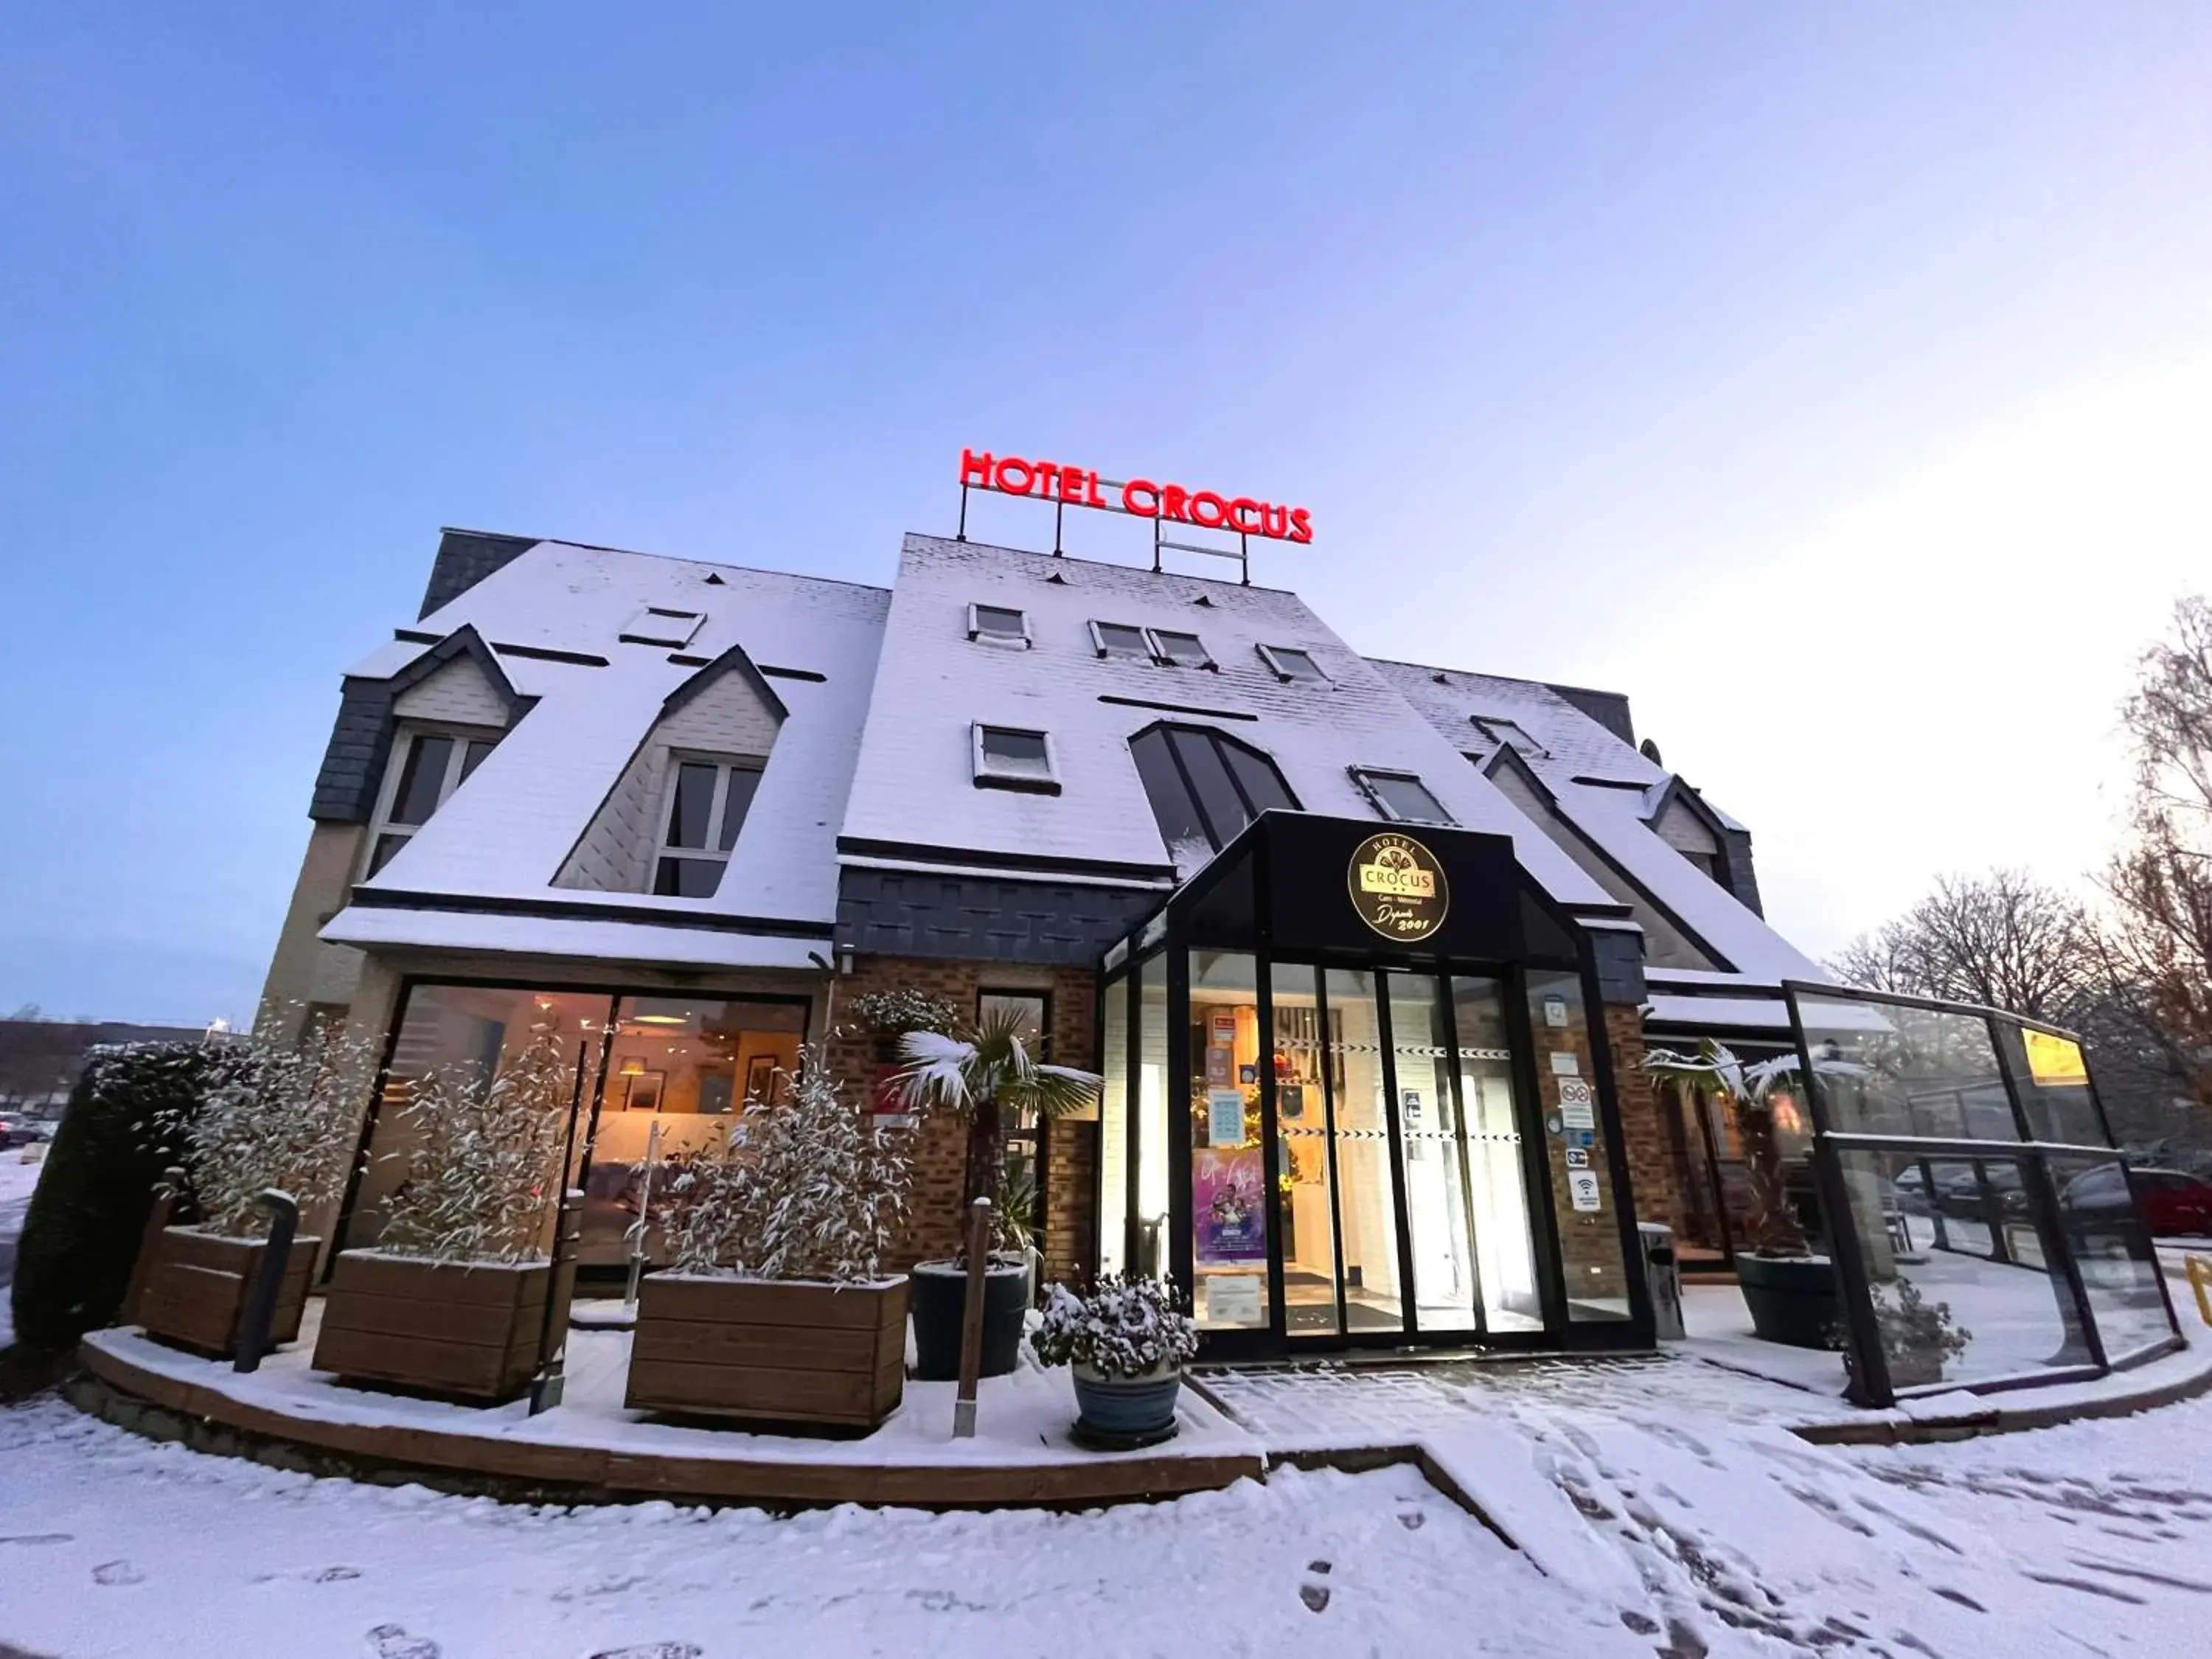
<instances>
[{"instance_id":1,"label":"snowy palm in dark pot right of the entrance vestibule","mask_svg":"<svg viewBox=\"0 0 2212 1659\"><path fill-rule=\"evenodd\" d=\"M1752 1183L1752 1241L1736 1250L1736 1285L1752 1314L1752 1329L1767 1343L1829 1347L1843 1318L1836 1270L1805 1241L1790 1203L1776 1139L1776 1108L1792 1099L1796 1055L1745 1064L1732 1048L1705 1037L1694 1055L1652 1048L1644 1068L1681 1088L1719 1093L1736 1117L1743 1161Z\"/></svg>"}]
</instances>

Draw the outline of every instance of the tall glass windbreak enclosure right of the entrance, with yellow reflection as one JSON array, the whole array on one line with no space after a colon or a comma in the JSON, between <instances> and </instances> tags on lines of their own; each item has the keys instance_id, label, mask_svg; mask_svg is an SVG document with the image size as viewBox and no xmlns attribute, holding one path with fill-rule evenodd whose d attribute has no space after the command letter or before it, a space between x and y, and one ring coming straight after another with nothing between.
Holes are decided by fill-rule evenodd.
<instances>
[{"instance_id":1,"label":"tall glass windbreak enclosure right of the entrance, with yellow reflection","mask_svg":"<svg viewBox=\"0 0 2212 1659\"><path fill-rule=\"evenodd\" d=\"M2181 1343L2081 1044L1790 984L1851 1398L2064 1383Z\"/></svg>"}]
</instances>

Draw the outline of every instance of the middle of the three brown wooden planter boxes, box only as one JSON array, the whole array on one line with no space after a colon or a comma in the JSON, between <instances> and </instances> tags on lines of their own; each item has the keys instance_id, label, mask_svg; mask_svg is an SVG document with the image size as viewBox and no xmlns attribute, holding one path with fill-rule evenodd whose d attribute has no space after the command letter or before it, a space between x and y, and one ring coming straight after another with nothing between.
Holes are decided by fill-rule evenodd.
<instances>
[{"instance_id":1,"label":"middle of the three brown wooden planter boxes, box only","mask_svg":"<svg viewBox=\"0 0 2212 1659\"><path fill-rule=\"evenodd\" d=\"M551 1292L549 1261L422 1261L347 1250L323 1296L314 1369L414 1394L511 1400L538 1374Z\"/></svg>"}]
</instances>

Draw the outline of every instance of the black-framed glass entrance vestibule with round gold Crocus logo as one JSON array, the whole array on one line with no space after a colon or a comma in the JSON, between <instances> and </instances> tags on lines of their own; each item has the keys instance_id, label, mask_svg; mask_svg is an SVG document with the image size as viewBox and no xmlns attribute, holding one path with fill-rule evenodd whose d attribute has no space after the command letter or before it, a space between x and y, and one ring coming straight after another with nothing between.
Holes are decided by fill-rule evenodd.
<instances>
[{"instance_id":1,"label":"black-framed glass entrance vestibule with round gold Crocus logo","mask_svg":"<svg viewBox=\"0 0 2212 1659\"><path fill-rule=\"evenodd\" d=\"M1099 1267L1212 1358L1648 1345L1595 1013L1504 836L1263 814L1106 956Z\"/></svg>"}]
</instances>

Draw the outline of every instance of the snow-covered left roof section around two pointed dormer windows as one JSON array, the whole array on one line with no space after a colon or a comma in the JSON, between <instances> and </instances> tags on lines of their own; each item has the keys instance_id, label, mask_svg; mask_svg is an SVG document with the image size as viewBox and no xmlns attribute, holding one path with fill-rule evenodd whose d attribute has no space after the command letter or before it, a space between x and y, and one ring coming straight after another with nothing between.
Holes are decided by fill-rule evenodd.
<instances>
[{"instance_id":1,"label":"snow-covered left roof section around two pointed dormer windows","mask_svg":"<svg viewBox=\"0 0 2212 1659\"><path fill-rule=\"evenodd\" d=\"M562 860L670 699L726 653L743 648L774 677L785 719L730 856L730 874L712 898L617 891L588 898L599 909L633 909L644 925L655 914L708 914L830 927L836 920L836 834L887 606L883 588L849 582L538 542L352 668L352 675L385 679L434 641L473 626L513 688L535 699L469 781L365 885L380 894L546 898ZM703 613L703 622L681 650L622 639L646 608ZM400 922L400 916L436 920ZM535 927L542 929L538 949L553 953L637 956L650 945L653 960L743 964L761 951L759 938L714 929L666 929L681 931L681 942L630 940L615 949L582 922L500 920L507 927L495 931L507 942L484 949L515 949L513 940ZM394 936L409 927L416 938ZM451 911L354 907L334 918L325 938L429 945L449 942L456 927Z\"/></svg>"}]
</instances>

